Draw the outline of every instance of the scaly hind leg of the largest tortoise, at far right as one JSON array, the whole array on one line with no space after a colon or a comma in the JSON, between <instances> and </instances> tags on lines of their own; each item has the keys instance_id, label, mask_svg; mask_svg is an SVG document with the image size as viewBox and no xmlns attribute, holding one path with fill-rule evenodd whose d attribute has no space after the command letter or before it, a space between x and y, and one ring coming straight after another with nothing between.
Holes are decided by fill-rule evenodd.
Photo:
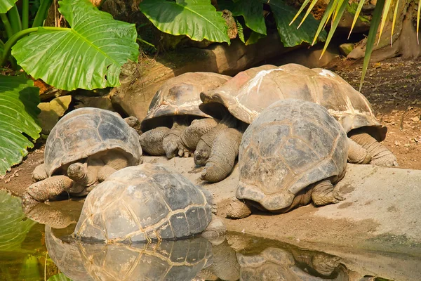
<instances>
[{"instance_id":1,"label":"scaly hind leg of the largest tortoise, at far right","mask_svg":"<svg viewBox=\"0 0 421 281\"><path fill-rule=\"evenodd\" d=\"M370 164L377 166L399 166L396 156L385 145L363 130L354 130L349 138L365 148L371 155Z\"/></svg>"}]
</instances>

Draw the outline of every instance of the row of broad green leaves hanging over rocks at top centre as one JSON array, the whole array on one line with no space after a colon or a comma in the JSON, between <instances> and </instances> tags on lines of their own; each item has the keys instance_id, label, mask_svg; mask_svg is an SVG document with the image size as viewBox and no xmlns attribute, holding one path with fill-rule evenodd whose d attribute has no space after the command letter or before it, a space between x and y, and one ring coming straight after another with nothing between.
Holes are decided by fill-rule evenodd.
<instances>
[{"instance_id":1,"label":"row of broad green leaves hanging over rocks at top centre","mask_svg":"<svg viewBox=\"0 0 421 281\"><path fill-rule=\"evenodd\" d=\"M232 12L238 22L243 18L245 25L252 31L246 44L254 44L258 39L267 34L264 4L272 11L276 27L284 46L296 46L302 42L310 43L316 34L316 20L311 17L301 30L297 25L288 23L293 19L295 8L285 4L283 0L219 0L220 10L227 9ZM173 35L187 35L193 40L227 42L227 23L222 18L222 13L210 4L210 0L143 0L140 11L162 32ZM238 26L238 23L237 23ZM242 30L241 30L242 31ZM244 41L244 33L239 37ZM326 32L320 32L318 39L324 40Z\"/></svg>"}]
</instances>

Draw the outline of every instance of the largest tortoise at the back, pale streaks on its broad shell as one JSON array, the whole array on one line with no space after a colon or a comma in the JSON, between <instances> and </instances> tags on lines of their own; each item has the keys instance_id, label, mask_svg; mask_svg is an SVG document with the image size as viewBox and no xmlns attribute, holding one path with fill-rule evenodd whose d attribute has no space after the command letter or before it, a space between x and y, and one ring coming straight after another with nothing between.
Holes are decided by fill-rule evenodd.
<instances>
[{"instance_id":1,"label":"largest tortoise at the back, pale streaks on its broad shell","mask_svg":"<svg viewBox=\"0 0 421 281\"><path fill-rule=\"evenodd\" d=\"M349 162L397 166L396 157L380 143L385 139L387 128L377 122L368 100L329 70L309 69L296 64L250 68L240 72L218 89L201 93L203 103L199 108L213 115L213 107L222 105L227 109L227 115L235 117L237 122L246 126L267 106L286 98L312 101L326 107L330 115L340 122L348 136L361 146L359 157L351 158ZM203 179L208 181L209 178L217 178L220 181L231 171L232 167L229 167L234 164L232 157L235 158L236 153L232 153L228 161L225 154L219 150L227 147L238 148L238 139L241 137L238 133L236 135L231 138L225 136L215 141L213 144L217 147L211 152L210 148L205 152L196 150L195 159L213 155L203 171ZM207 137L208 135L204 135L202 138ZM229 143L230 141L232 143ZM218 176L213 176L215 170L219 173Z\"/></svg>"}]
</instances>

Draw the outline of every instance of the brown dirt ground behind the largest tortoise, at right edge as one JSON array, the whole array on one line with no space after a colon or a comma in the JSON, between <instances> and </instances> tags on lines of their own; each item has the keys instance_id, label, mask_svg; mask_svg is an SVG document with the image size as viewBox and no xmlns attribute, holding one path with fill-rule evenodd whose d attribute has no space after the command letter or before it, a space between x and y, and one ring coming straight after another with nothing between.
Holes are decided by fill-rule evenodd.
<instances>
[{"instance_id":1,"label":"brown dirt ground behind the largest tortoise, at right edge","mask_svg":"<svg viewBox=\"0 0 421 281\"><path fill-rule=\"evenodd\" d=\"M361 64L335 70L359 89ZM405 169L421 169L421 63L393 58L373 63L361 93L370 101L377 119L387 126L384 144Z\"/></svg>"}]
</instances>

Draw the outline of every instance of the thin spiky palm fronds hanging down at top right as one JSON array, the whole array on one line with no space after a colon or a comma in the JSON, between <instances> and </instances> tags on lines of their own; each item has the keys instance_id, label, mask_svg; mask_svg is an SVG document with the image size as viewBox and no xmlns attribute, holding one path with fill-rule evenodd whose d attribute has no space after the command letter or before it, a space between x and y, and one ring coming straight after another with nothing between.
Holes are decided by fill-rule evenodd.
<instances>
[{"instance_id":1,"label":"thin spiky palm fronds hanging down at top right","mask_svg":"<svg viewBox=\"0 0 421 281\"><path fill-rule=\"evenodd\" d=\"M300 13L302 13L304 8L309 4L309 7L307 8L307 13L304 17L306 18L306 16L309 14L309 11L312 10L312 8L317 3L317 1L318 0L312 0L310 3L310 0L305 0L300 10L298 11L297 16L300 15ZM363 7L364 2L365 0L359 0L359 4L356 7L356 11L354 15L354 21L352 22L352 27L351 27L351 30L349 31L349 34L351 34L352 29L354 28L354 25L356 23L356 20L357 18L359 18L359 15L361 13L361 8ZM364 56L363 72L361 75L361 81L360 81L360 86L359 86L360 91L361 91L361 87L363 86L364 77L366 76L368 63L370 62L370 56L371 56L371 53L373 52L377 30L380 32L379 34L379 41L380 41L380 37L382 36L382 31L385 27L385 22L389 16L389 12L392 12L393 10L394 12L393 12L393 20L392 20L392 35L390 39L391 40L390 44L392 45L393 33L394 33L393 27L396 23L396 14L398 12L399 2L400 2L399 0L377 0L375 4L373 17L370 22L370 30L368 31L366 55ZM349 5L348 1L344 1L344 0L330 0L329 1L326 11L323 14L323 18L319 24L319 29L317 30L316 36L314 37L314 39L316 39L319 32L321 32L324 29L324 27L326 27L326 24L329 20L333 21L333 25L332 27L330 27L330 31L328 34L328 39L326 40L326 44L323 48L323 53L324 51L326 51L326 48L330 42L330 38L332 38L333 34L335 33L336 27L338 27L338 22L340 18L342 18L345 8L347 8L348 5ZM394 7L394 9L391 9L392 7ZM417 39L418 39L418 30L420 26L420 8L421 8L421 0L419 0L418 10L417 10ZM379 26L380 26L380 29L379 29ZM313 44L314 44L314 41L313 41ZM377 41L377 44L378 44L378 41Z\"/></svg>"}]
</instances>

